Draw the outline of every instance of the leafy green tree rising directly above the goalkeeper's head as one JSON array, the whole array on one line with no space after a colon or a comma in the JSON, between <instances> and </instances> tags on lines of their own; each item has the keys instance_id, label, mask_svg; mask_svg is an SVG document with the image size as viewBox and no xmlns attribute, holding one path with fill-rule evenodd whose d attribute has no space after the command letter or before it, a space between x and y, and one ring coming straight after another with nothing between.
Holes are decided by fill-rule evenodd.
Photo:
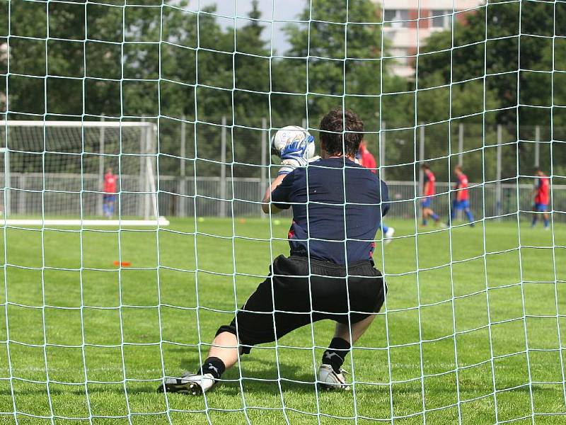
<instances>
[{"instance_id":1,"label":"leafy green tree rising directly above the goalkeeper's head","mask_svg":"<svg viewBox=\"0 0 566 425\"><path fill-rule=\"evenodd\" d=\"M299 111L317 128L330 108L350 108L364 120L364 137L379 157L383 124L388 129L415 125L410 82L393 75L393 60L382 59L389 42L382 39L381 6L371 0L315 0L299 21L308 24L287 27L291 48L286 56L292 59L278 61L275 71L277 89L296 94L287 96L287 111ZM407 143L399 135L388 138L388 164L405 162L402 159L412 154L412 135L405 136ZM398 178L403 173L391 169L388 175Z\"/></svg>"}]
</instances>

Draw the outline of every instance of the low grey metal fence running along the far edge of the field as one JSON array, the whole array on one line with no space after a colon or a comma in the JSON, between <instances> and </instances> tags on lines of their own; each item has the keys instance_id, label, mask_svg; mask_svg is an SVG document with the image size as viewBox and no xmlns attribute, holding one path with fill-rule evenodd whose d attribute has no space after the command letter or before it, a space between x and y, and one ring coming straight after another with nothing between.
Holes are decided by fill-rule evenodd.
<instances>
[{"instance_id":1,"label":"low grey metal fence running along the far edge of the field","mask_svg":"<svg viewBox=\"0 0 566 425\"><path fill-rule=\"evenodd\" d=\"M151 196L145 193L139 176L120 176L122 216L139 215L141 205ZM142 186L140 186L142 185ZM420 190L414 181L388 181L391 209L388 217L415 219L420 216ZM501 189L498 202L497 186ZM256 178L160 176L158 180L158 213L166 217L265 217L260 200L267 183ZM529 211L533 203L533 185L521 183L470 183L470 206L475 217L507 217L514 219L518 210ZM224 193L223 193L224 192ZM437 182L437 195L432 208L442 217L449 215L454 193L449 183ZM566 185L553 185L553 210L566 212ZM103 193L100 176L83 174L11 174L11 215L96 216ZM1 198L4 198L2 196ZM3 209L4 210L4 209ZM290 212L283 212L290 215ZM566 221L562 214L555 220Z\"/></svg>"}]
</instances>

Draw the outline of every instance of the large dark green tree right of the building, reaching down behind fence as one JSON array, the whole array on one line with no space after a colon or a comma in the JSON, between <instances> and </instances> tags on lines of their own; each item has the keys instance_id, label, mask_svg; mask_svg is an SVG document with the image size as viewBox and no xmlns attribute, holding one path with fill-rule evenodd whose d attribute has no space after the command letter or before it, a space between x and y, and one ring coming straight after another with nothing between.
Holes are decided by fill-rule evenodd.
<instances>
[{"instance_id":1,"label":"large dark green tree right of the building, reaching down behind fence","mask_svg":"<svg viewBox=\"0 0 566 425\"><path fill-rule=\"evenodd\" d=\"M566 104L564 35L565 4L490 2L456 14L454 31L432 35L420 55L417 83L426 89L419 93L420 120L451 119L453 127L463 123L475 128L472 148L495 142L498 124L504 128L504 142L534 140L536 125L541 126L541 140L551 140L551 133L554 140L566 140L566 113L551 108ZM521 174L532 172L534 145L516 146ZM541 164L548 168L549 152L544 150ZM495 166L495 158L487 155L470 154L470 159L471 179L481 179L483 169ZM555 149L556 159L555 166L566 160L560 149ZM504 161L504 175L517 172L515 162Z\"/></svg>"}]
</instances>

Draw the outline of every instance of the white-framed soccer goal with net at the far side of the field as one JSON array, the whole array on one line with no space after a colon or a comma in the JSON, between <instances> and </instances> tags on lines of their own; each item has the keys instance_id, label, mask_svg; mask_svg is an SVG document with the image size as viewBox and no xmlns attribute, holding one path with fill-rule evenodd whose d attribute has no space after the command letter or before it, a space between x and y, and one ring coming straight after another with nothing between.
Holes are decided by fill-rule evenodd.
<instances>
[{"instance_id":1,"label":"white-framed soccer goal with net at the far side of the field","mask_svg":"<svg viewBox=\"0 0 566 425\"><path fill-rule=\"evenodd\" d=\"M1 120L0 146L0 224L168 225L158 214L154 123ZM105 201L107 171L116 186Z\"/></svg>"}]
</instances>

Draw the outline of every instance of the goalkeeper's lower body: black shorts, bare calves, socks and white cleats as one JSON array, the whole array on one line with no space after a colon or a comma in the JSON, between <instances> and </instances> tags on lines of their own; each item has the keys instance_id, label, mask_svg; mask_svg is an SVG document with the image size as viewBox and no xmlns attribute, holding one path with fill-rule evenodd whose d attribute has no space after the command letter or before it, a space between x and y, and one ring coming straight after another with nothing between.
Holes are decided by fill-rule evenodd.
<instances>
[{"instance_id":1,"label":"goalkeeper's lower body: black shorts, bare calves, socks and white cleats","mask_svg":"<svg viewBox=\"0 0 566 425\"><path fill-rule=\"evenodd\" d=\"M350 266L348 273L346 279L345 266L325 261L277 257L271 276L260 283L231 324L220 327L200 370L167 378L159 390L201 394L236 364L238 353L249 353L257 344L275 341L322 319L340 324L326 353L330 360L320 367L318 381L325 387L347 389L340 366L350 351L350 341L369 327L386 293L381 273L369 261Z\"/></svg>"}]
</instances>

